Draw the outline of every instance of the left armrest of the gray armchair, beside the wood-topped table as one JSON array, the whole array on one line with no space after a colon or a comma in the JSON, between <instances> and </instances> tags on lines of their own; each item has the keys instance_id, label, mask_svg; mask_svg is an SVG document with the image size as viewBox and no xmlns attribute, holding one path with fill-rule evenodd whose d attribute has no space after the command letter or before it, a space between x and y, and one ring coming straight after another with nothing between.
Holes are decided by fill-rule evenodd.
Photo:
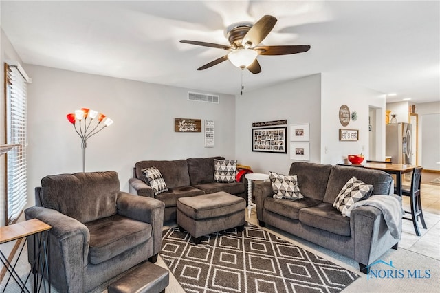
<instances>
[{"instance_id":1,"label":"left armrest of the gray armchair, beside the wood-topped table","mask_svg":"<svg viewBox=\"0 0 440 293\"><path fill-rule=\"evenodd\" d=\"M83 270L88 263L90 233L89 229L76 219L63 215L57 210L32 206L25 210L26 219L39 219L52 226L50 230L50 268L59 278L65 278L68 284L76 284L78 292L83 291ZM32 237L28 239L30 245ZM80 252L83 253L72 253ZM28 250L29 261L34 260L33 250ZM60 259L62 261L60 261Z\"/></svg>"}]
</instances>

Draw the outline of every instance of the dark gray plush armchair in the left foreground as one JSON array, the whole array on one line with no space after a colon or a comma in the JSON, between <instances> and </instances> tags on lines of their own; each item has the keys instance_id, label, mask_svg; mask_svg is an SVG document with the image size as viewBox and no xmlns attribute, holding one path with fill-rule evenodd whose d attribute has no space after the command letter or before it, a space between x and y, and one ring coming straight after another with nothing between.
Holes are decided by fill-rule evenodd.
<instances>
[{"instance_id":1,"label":"dark gray plush armchair in the left foreground","mask_svg":"<svg viewBox=\"0 0 440 293\"><path fill-rule=\"evenodd\" d=\"M35 188L36 206L25 217L52 226L51 283L59 292L87 292L138 263L156 261L164 203L119 188L114 171L51 175ZM34 259L32 250L28 257Z\"/></svg>"}]
</instances>

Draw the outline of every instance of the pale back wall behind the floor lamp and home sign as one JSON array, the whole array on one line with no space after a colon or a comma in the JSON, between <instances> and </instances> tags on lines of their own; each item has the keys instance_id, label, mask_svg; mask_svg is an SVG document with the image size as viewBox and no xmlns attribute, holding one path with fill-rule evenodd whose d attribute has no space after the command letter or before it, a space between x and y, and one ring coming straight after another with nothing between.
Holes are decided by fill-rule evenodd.
<instances>
[{"instance_id":1,"label":"pale back wall behind the floor lamp and home sign","mask_svg":"<svg viewBox=\"0 0 440 293\"><path fill-rule=\"evenodd\" d=\"M87 141L86 171L117 171L129 190L135 162L212 155L235 157L235 98L220 94L219 104L187 100L188 89L27 65L30 204L45 175L82 171L80 138L66 114L82 107L112 120ZM210 93L216 94L216 93ZM174 118L214 119L214 148L201 133L175 133Z\"/></svg>"}]
</instances>

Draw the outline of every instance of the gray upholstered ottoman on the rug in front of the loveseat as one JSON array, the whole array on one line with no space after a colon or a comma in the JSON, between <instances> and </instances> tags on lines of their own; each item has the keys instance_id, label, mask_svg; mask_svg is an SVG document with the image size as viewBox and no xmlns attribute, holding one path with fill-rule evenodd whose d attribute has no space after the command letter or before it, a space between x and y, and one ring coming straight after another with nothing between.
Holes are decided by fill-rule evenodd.
<instances>
[{"instance_id":1,"label":"gray upholstered ottoman on the rug in front of the loveseat","mask_svg":"<svg viewBox=\"0 0 440 293\"><path fill-rule=\"evenodd\" d=\"M239 227L245 221L245 199L224 191L177 199L177 224L199 244L203 235Z\"/></svg>"}]
</instances>

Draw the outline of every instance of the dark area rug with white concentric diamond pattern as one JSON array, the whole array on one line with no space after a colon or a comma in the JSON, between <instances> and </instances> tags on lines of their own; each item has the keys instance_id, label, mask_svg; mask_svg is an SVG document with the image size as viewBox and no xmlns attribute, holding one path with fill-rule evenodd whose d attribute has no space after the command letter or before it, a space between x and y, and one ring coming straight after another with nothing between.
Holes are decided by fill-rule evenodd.
<instances>
[{"instance_id":1,"label":"dark area rug with white concentric diamond pattern","mask_svg":"<svg viewBox=\"0 0 440 293\"><path fill-rule=\"evenodd\" d=\"M340 292L349 270L247 224L201 237L164 230L160 255L186 292Z\"/></svg>"}]
</instances>

